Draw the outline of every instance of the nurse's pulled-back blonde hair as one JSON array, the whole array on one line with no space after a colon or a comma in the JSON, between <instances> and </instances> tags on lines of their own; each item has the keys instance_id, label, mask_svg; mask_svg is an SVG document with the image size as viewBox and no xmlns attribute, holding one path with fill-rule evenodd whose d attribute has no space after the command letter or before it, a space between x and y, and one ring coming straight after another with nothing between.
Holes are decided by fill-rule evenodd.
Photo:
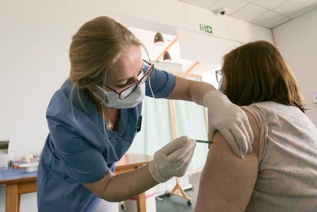
<instances>
[{"instance_id":1,"label":"nurse's pulled-back blonde hair","mask_svg":"<svg viewBox=\"0 0 317 212\"><path fill-rule=\"evenodd\" d=\"M72 37L69 48L70 99L77 90L81 102L80 90L105 83L106 70L111 69L131 45L144 48L131 31L110 17L97 17L82 25Z\"/></svg>"}]
</instances>

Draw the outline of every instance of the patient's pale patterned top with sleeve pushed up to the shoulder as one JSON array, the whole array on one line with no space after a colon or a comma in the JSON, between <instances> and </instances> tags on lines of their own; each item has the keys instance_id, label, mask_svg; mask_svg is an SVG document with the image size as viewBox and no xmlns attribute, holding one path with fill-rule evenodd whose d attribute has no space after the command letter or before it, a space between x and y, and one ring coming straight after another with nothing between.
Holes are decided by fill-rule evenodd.
<instances>
[{"instance_id":1,"label":"patient's pale patterned top with sleeve pushed up to the shoulder","mask_svg":"<svg viewBox=\"0 0 317 212\"><path fill-rule=\"evenodd\" d=\"M244 106L260 128L258 178L246 212L317 212L317 128L297 107Z\"/></svg>"}]
</instances>

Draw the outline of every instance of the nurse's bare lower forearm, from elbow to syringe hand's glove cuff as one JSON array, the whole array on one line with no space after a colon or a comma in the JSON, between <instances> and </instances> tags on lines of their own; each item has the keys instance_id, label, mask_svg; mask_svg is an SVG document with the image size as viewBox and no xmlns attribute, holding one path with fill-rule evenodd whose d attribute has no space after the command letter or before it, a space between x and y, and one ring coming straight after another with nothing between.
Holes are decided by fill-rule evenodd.
<instances>
[{"instance_id":1,"label":"nurse's bare lower forearm, from elbow to syringe hand's glove cuff","mask_svg":"<svg viewBox=\"0 0 317 212\"><path fill-rule=\"evenodd\" d=\"M109 202L120 202L141 194L158 184L152 177L147 164L136 170L112 176L100 198Z\"/></svg>"}]
</instances>

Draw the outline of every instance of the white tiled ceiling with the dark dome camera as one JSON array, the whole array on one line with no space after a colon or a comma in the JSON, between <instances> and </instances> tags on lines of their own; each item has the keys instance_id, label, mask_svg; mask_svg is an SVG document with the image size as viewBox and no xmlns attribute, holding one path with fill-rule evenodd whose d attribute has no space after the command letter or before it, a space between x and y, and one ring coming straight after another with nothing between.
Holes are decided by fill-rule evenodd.
<instances>
[{"instance_id":1,"label":"white tiled ceiling with the dark dome camera","mask_svg":"<svg viewBox=\"0 0 317 212\"><path fill-rule=\"evenodd\" d=\"M211 11L273 28L317 8L317 0L180 0Z\"/></svg>"}]
</instances>

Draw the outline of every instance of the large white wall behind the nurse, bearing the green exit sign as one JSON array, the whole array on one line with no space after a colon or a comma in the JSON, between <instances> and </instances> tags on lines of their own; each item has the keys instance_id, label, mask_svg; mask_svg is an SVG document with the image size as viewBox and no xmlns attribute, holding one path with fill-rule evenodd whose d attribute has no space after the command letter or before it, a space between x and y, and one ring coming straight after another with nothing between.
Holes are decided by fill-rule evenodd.
<instances>
[{"instance_id":1,"label":"large white wall behind the nurse, bearing the green exit sign","mask_svg":"<svg viewBox=\"0 0 317 212\"><path fill-rule=\"evenodd\" d=\"M0 139L10 139L15 158L41 152L48 134L46 108L68 76L71 36L84 22L101 15L112 16L126 26L167 34L194 32L202 42L206 37L237 44L256 39L272 41L269 29L179 0L161 0L159 4L155 0L1 0ZM200 23L211 25L214 34L200 32ZM182 45L193 42L183 39ZM211 48L210 53L219 57L217 51ZM187 60L196 57L185 50L182 55L187 55ZM1 212L5 197L4 188L0 190ZM35 194L22 196L21 212L25 211L36 211Z\"/></svg>"}]
</instances>

